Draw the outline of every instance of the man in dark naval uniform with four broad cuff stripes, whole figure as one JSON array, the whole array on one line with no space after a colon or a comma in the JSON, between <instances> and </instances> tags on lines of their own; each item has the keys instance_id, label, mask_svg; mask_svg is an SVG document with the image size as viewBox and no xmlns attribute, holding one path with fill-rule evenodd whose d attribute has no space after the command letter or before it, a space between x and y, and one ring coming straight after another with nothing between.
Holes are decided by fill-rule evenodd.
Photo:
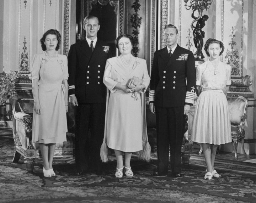
<instances>
[{"instance_id":1,"label":"man in dark naval uniform with four broad cuff stripes, whole figure","mask_svg":"<svg viewBox=\"0 0 256 203\"><path fill-rule=\"evenodd\" d=\"M150 80L150 111L156 114L158 168L155 176L168 173L169 147L171 169L181 174L181 145L185 128L184 114L194 103L196 69L193 53L177 44L178 29L166 25L166 47L154 53Z\"/></svg>"}]
</instances>

